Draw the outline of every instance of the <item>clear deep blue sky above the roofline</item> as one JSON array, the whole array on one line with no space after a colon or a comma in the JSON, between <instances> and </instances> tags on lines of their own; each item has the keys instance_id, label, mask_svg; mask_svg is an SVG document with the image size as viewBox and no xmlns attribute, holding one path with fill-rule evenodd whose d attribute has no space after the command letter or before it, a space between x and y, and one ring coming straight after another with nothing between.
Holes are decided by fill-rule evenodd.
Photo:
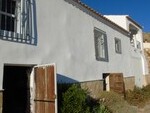
<instances>
[{"instance_id":1,"label":"clear deep blue sky above the roofline","mask_svg":"<svg viewBox=\"0 0 150 113\"><path fill-rule=\"evenodd\" d=\"M150 32L150 0L81 0L103 15L129 15Z\"/></svg>"}]
</instances>

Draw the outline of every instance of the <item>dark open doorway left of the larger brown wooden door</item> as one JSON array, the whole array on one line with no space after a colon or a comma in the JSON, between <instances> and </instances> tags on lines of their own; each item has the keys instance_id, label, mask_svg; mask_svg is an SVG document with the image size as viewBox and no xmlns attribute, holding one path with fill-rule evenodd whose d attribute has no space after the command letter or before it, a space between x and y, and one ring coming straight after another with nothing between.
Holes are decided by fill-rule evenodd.
<instances>
[{"instance_id":1,"label":"dark open doorway left of the larger brown wooden door","mask_svg":"<svg viewBox=\"0 0 150 113\"><path fill-rule=\"evenodd\" d=\"M30 113L31 69L27 66L4 66L2 113Z\"/></svg>"}]
</instances>

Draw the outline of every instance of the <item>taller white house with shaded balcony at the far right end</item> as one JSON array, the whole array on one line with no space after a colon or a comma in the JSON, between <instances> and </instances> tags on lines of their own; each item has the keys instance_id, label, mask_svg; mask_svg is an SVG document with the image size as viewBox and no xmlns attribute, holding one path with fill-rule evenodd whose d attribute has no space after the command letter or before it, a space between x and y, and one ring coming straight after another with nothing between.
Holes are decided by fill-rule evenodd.
<instances>
[{"instance_id":1,"label":"taller white house with shaded balcony at the far right end","mask_svg":"<svg viewBox=\"0 0 150 113\"><path fill-rule=\"evenodd\" d=\"M133 19L131 19L128 15L105 15L108 19L115 22L122 28L126 29L131 34L131 58L132 58L132 65L133 67L138 68L137 66L142 66L143 73L138 72L138 74L135 75L136 83L142 85L146 85L145 76L148 74L148 64L147 60L144 55L144 45L143 45L143 32L142 27L135 22ZM136 61L135 61L136 59ZM140 64L138 64L139 62ZM143 80L145 83L143 84L141 81L138 83L138 80L143 76ZM140 78L139 78L140 77ZM143 82L144 82L143 81ZM139 86L139 85L137 85Z\"/></svg>"}]
</instances>

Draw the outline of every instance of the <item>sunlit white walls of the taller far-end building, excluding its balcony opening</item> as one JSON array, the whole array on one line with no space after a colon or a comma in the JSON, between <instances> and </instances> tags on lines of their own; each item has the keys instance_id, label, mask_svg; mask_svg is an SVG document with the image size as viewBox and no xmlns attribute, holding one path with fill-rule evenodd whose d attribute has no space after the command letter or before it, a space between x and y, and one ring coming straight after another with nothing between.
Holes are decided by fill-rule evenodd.
<instances>
[{"instance_id":1,"label":"sunlit white walls of the taller far-end building, excluding its balcony opening","mask_svg":"<svg viewBox=\"0 0 150 113\"><path fill-rule=\"evenodd\" d=\"M133 23L132 21L130 21L127 17L128 15L105 15L105 17L107 17L108 19L110 19L111 21L113 21L114 23L118 24L119 26L121 26L122 28L126 29L127 31L129 31L129 25L132 24L133 26L135 26L138 29L137 34L134 36L134 40L135 40L135 47L131 46L131 58L132 58L132 66L136 67L137 69L141 69L142 70L137 70L137 74L136 74L136 85L137 86L142 86L142 78L143 75L148 74L148 64L144 55L144 51L143 51L143 32L142 29L137 26L135 23ZM141 44L141 49L137 48L137 41L140 42ZM137 54L140 56L137 61L135 60L135 56L137 56ZM141 59L141 60L139 60ZM141 71L143 72L141 74ZM134 74L134 75L135 75Z\"/></svg>"}]
</instances>

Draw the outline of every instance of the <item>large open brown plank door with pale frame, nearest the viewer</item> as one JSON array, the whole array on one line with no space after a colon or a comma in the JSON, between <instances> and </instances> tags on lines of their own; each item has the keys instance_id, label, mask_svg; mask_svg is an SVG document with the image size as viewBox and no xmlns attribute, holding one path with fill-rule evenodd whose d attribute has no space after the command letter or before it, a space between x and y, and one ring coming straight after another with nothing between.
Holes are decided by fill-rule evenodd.
<instances>
[{"instance_id":1,"label":"large open brown plank door with pale frame, nearest the viewer","mask_svg":"<svg viewBox=\"0 0 150 113\"><path fill-rule=\"evenodd\" d=\"M35 67L35 113L55 113L55 69Z\"/></svg>"}]
</instances>

